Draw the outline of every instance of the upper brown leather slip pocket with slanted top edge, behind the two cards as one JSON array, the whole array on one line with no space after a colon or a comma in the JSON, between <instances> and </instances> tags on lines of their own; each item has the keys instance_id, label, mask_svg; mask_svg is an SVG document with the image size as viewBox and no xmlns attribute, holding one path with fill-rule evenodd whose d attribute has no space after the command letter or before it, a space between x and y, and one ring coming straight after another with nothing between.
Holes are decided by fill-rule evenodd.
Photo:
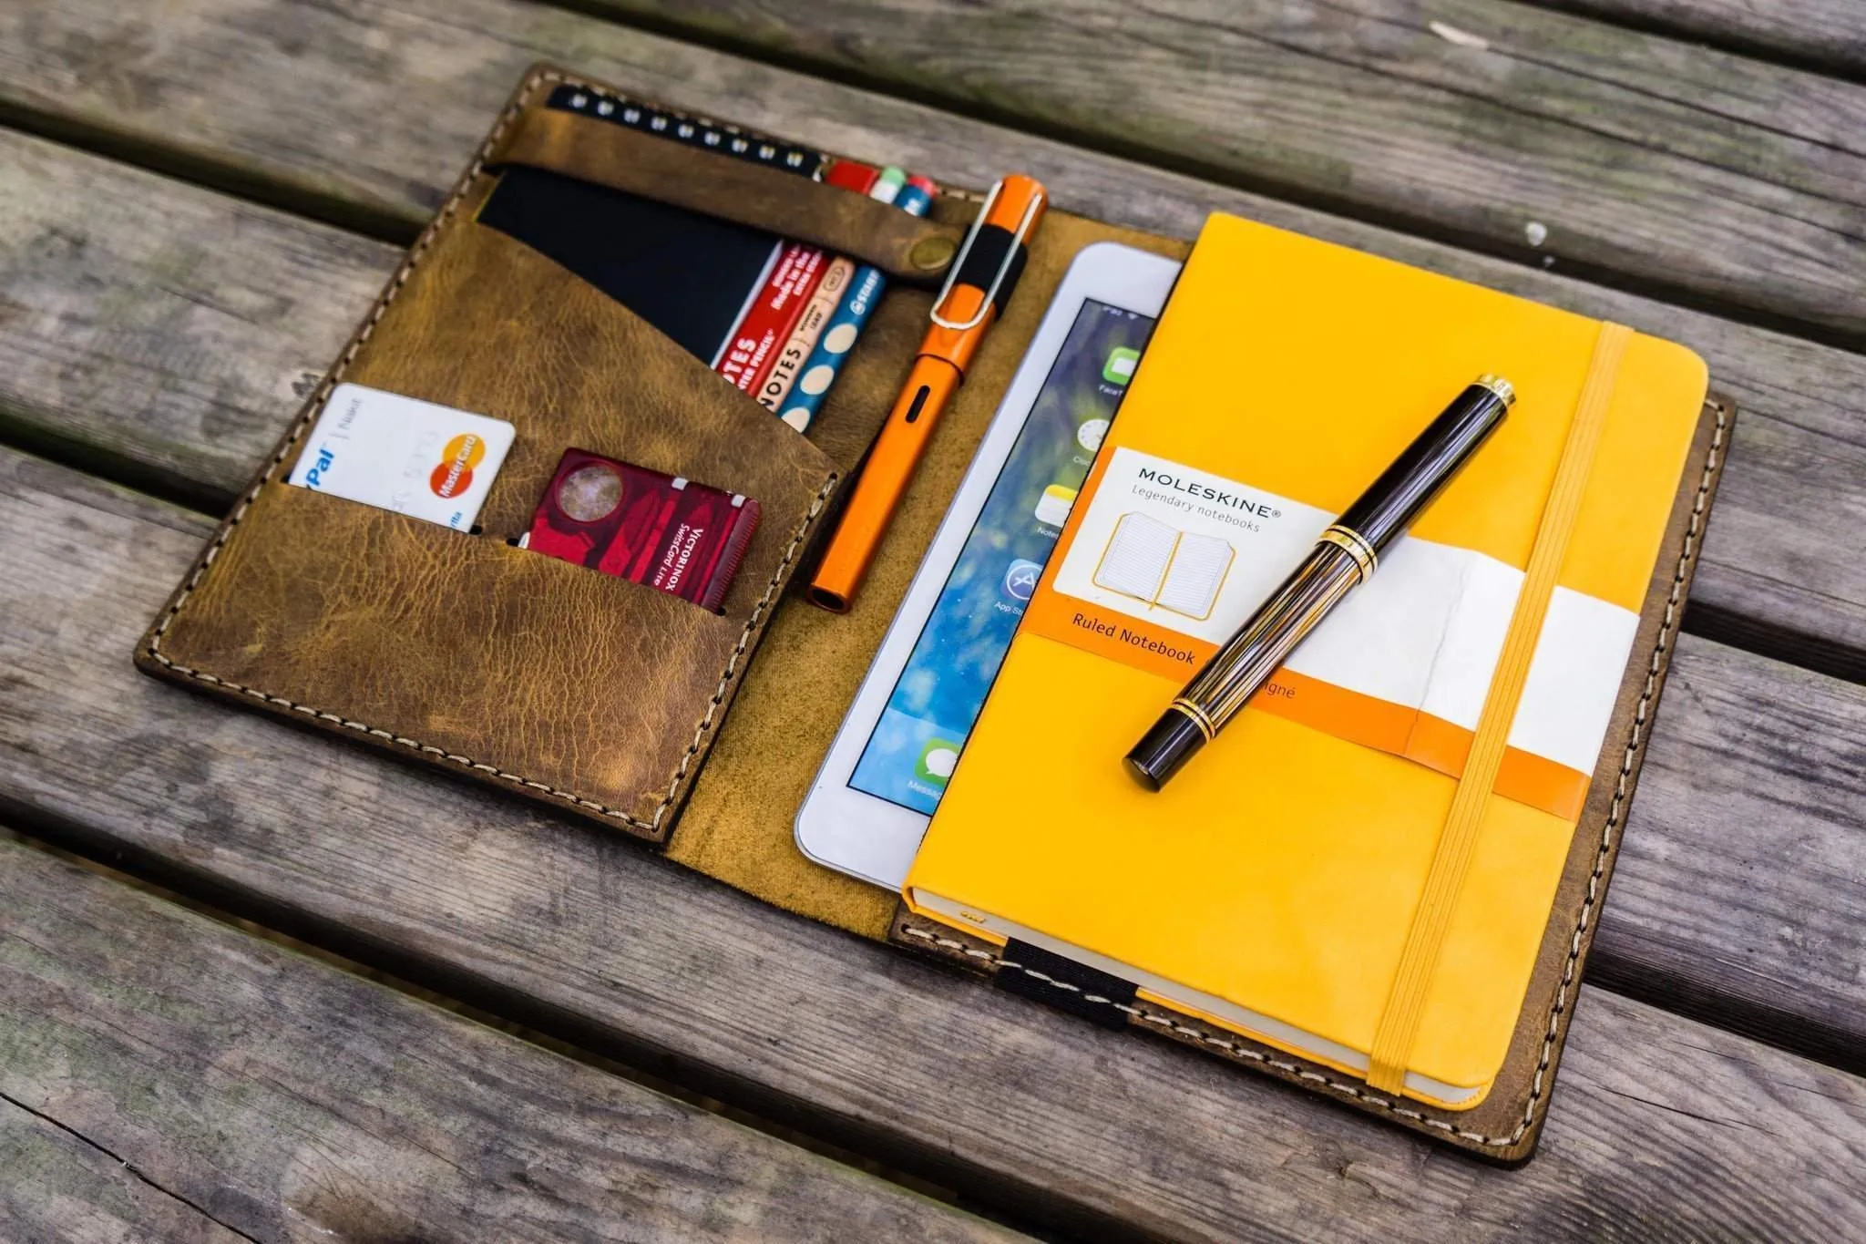
<instances>
[{"instance_id":1,"label":"upper brown leather slip pocket with slanted top edge, behind the two cards","mask_svg":"<svg viewBox=\"0 0 1866 1244\"><path fill-rule=\"evenodd\" d=\"M756 500L763 518L728 615L750 615L758 584L834 474L806 436L659 328L496 229L461 222L437 239L377 334L383 345L360 354L345 380L517 429L480 511L487 535L530 526L565 449Z\"/></svg>"}]
</instances>

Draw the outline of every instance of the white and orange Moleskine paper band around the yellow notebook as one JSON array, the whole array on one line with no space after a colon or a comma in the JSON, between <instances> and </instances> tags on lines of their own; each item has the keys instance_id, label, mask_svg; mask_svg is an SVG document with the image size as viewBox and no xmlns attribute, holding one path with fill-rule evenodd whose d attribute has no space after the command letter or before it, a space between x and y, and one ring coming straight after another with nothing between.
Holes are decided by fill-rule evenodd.
<instances>
[{"instance_id":1,"label":"white and orange Moleskine paper band around the yellow notebook","mask_svg":"<svg viewBox=\"0 0 1866 1244\"><path fill-rule=\"evenodd\" d=\"M1067 610L1039 602L1024 625L1183 683L1332 520L1329 509L1120 448L1056 573ZM1523 571L1497 558L1405 535L1252 711L1455 778L1521 586ZM1500 795L1579 819L1636 629L1633 610L1556 587Z\"/></svg>"}]
</instances>

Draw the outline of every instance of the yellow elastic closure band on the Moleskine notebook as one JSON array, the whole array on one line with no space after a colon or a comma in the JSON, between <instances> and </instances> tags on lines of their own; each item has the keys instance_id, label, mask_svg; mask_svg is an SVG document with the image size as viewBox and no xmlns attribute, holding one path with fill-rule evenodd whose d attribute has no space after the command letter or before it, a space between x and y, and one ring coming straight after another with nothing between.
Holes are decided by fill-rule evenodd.
<instances>
[{"instance_id":1,"label":"yellow elastic closure band on the Moleskine notebook","mask_svg":"<svg viewBox=\"0 0 1866 1244\"><path fill-rule=\"evenodd\" d=\"M1489 806L1497 772L1504 763L1510 726L1515 722L1517 701L1528 681L1530 658L1536 655L1536 640L1541 638L1541 623L1554 595L1554 578L1562 573L1562 560L1567 556L1567 537L1575 528L1581 498L1588 491L1588 472L1594 468L1594 449L1601 440L1601 427L1607 425L1607 405L1614 394L1620 356L1631 339L1631 328L1603 323L1601 336L1594 343L1594 360L1588 364L1588 379L1581 388L1581 405L1567 429L1567 444L1562 448L1562 463L1554 472L1554 487L1543 505L1536 545L1530 548L1528 567L1523 573L1523 595L1517 597L1515 614L1510 617L1504 651L1497 660L1497 675L1491 679L1491 688L1483 698L1483 714L1478 718L1478 729L1470 740L1470 757L1465 761L1465 774L1452 796L1452 813L1439 836L1439 850L1426 875L1426 892L1413 914L1405 949L1400 953L1400 972L1386 996L1379 1028L1373 1031L1368 1085L1383 1093L1400 1093L1405 1087L1405 1071L1413 1056L1420 1016L1426 1011L1426 994L1439 968L1439 951L1452 927L1457 895L1465 888L1465 873L1470 869L1470 856L1478 845L1483 809Z\"/></svg>"}]
</instances>

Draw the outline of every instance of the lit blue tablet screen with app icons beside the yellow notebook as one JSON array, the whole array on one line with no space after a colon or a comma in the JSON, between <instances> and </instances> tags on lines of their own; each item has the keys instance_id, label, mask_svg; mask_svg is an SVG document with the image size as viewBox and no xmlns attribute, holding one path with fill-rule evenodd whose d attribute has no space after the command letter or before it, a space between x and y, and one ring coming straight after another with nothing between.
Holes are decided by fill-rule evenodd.
<instances>
[{"instance_id":1,"label":"lit blue tablet screen with app icons beside the yellow notebook","mask_svg":"<svg viewBox=\"0 0 1866 1244\"><path fill-rule=\"evenodd\" d=\"M1153 319L1084 298L849 785L931 815Z\"/></svg>"}]
</instances>

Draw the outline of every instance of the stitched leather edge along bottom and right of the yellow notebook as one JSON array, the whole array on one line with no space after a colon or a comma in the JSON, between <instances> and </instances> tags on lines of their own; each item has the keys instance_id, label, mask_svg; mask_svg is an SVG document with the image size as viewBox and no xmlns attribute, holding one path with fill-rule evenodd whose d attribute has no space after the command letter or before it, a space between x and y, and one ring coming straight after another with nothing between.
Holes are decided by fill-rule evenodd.
<instances>
[{"instance_id":1,"label":"stitched leather edge along bottom and right of the yellow notebook","mask_svg":"<svg viewBox=\"0 0 1866 1244\"><path fill-rule=\"evenodd\" d=\"M1336 1080L1334 1076L1312 1071L1301 1063L1278 1059L1271 1054L1265 1054L1263 1050L1243 1046L1237 1041L1232 1041L1230 1037L1215 1035L1220 1030L1204 1026L1194 1028L1183 1022L1176 1015L1163 1015L1157 1011L1149 1011L1146 1007L1110 1002L1097 994L1082 994L1082 1000L1112 1005L1118 1011L1123 1011L1140 1022L1155 1024L1159 1028L1168 1028L1179 1033L1181 1037L1192 1037L1194 1041L1220 1048L1226 1054L1232 1054L1233 1057L1248 1059L1252 1063L1261 1063L1265 1067L1274 1067L1276 1071L1288 1072L1299 1080L1319 1084L1344 1097L1351 1097L1373 1110L1385 1110L1388 1113L1401 1115L1405 1119L1418 1123L1420 1127L1437 1128L1441 1132L1446 1132L1448 1136L1457 1136L1459 1140L1469 1140L1472 1143L1480 1143L1491 1149L1508 1149L1510 1145L1515 1145L1519 1140L1523 1140L1523 1136L1526 1136L1530 1127L1534 1127L1536 1123L1538 1104L1547 1097L1549 1061L1554 1057L1554 1039L1562 1028L1562 1015L1567 1011L1567 990L1575 987L1575 968L1581 962L1581 942L1586 936L1588 923L1594 918L1594 906L1595 903L1599 903L1601 897L1601 880L1607 875L1607 856L1612 852L1614 834L1620 826L1620 815L1625 811L1627 795L1631 791L1633 757L1638 755L1640 740L1646 733L1646 714L1651 709L1651 699L1659 690L1659 666L1664 660L1664 653L1670 649L1672 630L1678 627L1679 604L1685 593L1685 569L1696 556L1696 545L1702 535L1704 505L1707 504L1711 492L1711 479L1717 477L1719 455L1724 448L1724 429L1730 423L1728 410L1720 403L1713 407L1713 410L1717 412L1717 429L1711 433L1711 448L1704 459L1704 476L1698 481L1698 494L1691 505L1691 522L1685 526L1685 541L1678 554L1678 567L1672 573L1672 593L1670 597L1666 597L1664 602L1664 623L1659 627L1659 640L1651 649L1651 662L1646 668L1646 684L1640 692L1638 705L1633 711L1633 726L1627 731L1627 748L1620 759L1620 776L1614 781L1614 802L1612 808L1608 808L1607 811L1607 824L1601 828L1601 847L1594 854L1594 873L1588 877L1588 897L1582 901L1581 916L1575 919L1575 933L1567 942L1567 962L1562 968L1562 983L1554 992L1554 1002L1549 1005L1549 1030L1541 1039L1541 1057L1536 1063L1536 1076L1530 1082L1528 1104L1523 1110L1523 1121L1515 1127L1513 1132L1510 1132L1508 1136L1485 1136L1482 1132L1459 1128L1452 1123L1446 1123L1444 1119L1433 1119L1431 1115L1426 1115L1418 1110L1401 1106L1400 1102L1388 1097L1377 1097L1366 1087L1360 1087L1357 1084ZM978 949L976 946L967 946L957 938L940 936L939 933L933 931L935 927L937 925L931 927L909 925L903 921L901 934L922 942L931 942L942 949L957 951L967 959L976 959L985 964L993 964L998 968L1015 968L1017 972L1023 972L1024 975L1043 981L1045 985L1054 985L1058 988L1067 988L1071 992L1080 994L1080 990L1075 985L1065 985L1064 981L1056 981L1041 972L1026 968L1024 964L1011 962L993 951L983 951Z\"/></svg>"}]
</instances>

